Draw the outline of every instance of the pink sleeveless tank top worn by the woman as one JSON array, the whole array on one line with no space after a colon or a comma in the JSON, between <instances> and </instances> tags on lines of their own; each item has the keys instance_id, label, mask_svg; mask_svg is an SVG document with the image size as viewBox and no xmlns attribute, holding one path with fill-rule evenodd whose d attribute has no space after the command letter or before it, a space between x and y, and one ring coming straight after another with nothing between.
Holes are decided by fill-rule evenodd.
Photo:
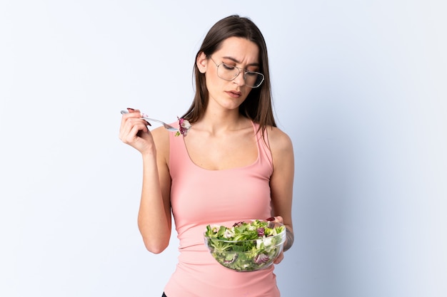
<instances>
[{"instance_id":1,"label":"pink sleeveless tank top worn by the woman","mask_svg":"<svg viewBox=\"0 0 447 297\"><path fill-rule=\"evenodd\" d=\"M253 123L256 132L258 125ZM206 170L191 161L183 137L170 133L171 207L179 238L179 263L166 284L168 297L278 297L273 265L237 272L221 266L204 244L208 224L271 217L271 152L258 141L253 164ZM187 137L187 136L186 136Z\"/></svg>"}]
</instances>

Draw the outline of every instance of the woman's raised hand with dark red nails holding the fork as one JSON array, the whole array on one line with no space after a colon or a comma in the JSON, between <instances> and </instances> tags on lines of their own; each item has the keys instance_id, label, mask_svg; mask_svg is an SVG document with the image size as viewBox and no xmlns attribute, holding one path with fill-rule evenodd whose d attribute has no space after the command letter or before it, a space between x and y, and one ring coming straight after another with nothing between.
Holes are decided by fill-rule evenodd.
<instances>
[{"instance_id":1,"label":"woman's raised hand with dark red nails holding the fork","mask_svg":"<svg viewBox=\"0 0 447 297\"><path fill-rule=\"evenodd\" d=\"M129 113L125 113L121 118L121 127L119 129L119 139L139 150L141 154L145 152L154 152L155 145L151 132L147 125L150 125L146 120L141 119L140 110L127 108Z\"/></svg>"}]
</instances>

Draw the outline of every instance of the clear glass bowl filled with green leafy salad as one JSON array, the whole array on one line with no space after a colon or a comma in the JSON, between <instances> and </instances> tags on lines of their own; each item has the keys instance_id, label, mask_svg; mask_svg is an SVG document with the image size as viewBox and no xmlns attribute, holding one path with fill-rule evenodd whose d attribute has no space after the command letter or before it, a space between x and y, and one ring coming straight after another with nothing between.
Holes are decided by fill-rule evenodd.
<instances>
[{"instance_id":1,"label":"clear glass bowl filled with green leafy salad","mask_svg":"<svg viewBox=\"0 0 447 297\"><path fill-rule=\"evenodd\" d=\"M271 266L283 250L286 227L261 219L208 225L204 239L219 264L234 271L258 271Z\"/></svg>"}]
</instances>

